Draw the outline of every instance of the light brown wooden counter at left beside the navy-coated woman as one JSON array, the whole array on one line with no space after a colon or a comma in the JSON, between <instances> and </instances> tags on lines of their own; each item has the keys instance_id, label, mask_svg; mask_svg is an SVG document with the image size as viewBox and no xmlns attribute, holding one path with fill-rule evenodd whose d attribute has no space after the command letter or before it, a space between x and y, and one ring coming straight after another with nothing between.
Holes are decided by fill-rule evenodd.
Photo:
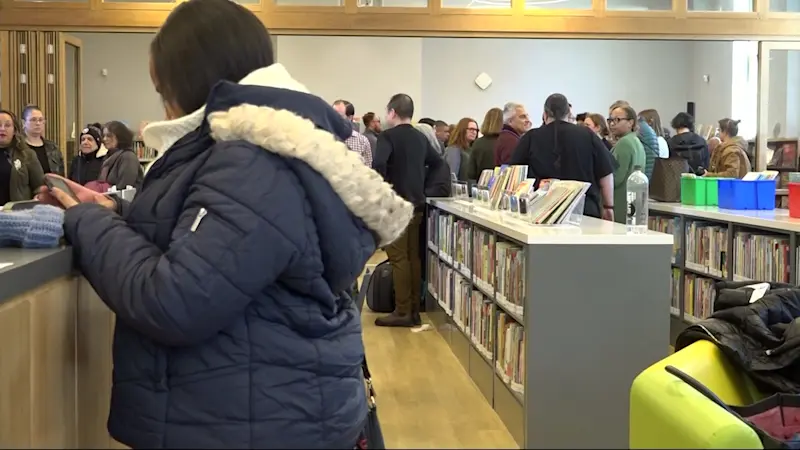
<instances>
[{"instance_id":1,"label":"light brown wooden counter at left beside the navy-coated woman","mask_svg":"<svg viewBox=\"0 0 800 450\"><path fill-rule=\"evenodd\" d=\"M0 271L6 287L34 283L31 277L45 273L51 278L0 298L2 448L121 447L106 431L114 315L86 280L71 273L69 256L41 253ZM0 250L0 263L9 259ZM26 267L34 263L38 270ZM60 276L53 278L54 267L42 270L55 264Z\"/></svg>"}]
</instances>

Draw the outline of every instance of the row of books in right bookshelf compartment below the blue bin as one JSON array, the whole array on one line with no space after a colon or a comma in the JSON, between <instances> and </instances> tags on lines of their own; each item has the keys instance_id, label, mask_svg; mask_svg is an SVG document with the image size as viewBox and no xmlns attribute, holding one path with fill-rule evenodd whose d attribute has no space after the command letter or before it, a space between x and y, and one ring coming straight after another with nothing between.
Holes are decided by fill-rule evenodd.
<instances>
[{"instance_id":1,"label":"row of books in right bookshelf compartment below the blue bin","mask_svg":"<svg viewBox=\"0 0 800 450\"><path fill-rule=\"evenodd\" d=\"M789 283L789 237L739 231L733 241L733 280Z\"/></svg>"}]
</instances>

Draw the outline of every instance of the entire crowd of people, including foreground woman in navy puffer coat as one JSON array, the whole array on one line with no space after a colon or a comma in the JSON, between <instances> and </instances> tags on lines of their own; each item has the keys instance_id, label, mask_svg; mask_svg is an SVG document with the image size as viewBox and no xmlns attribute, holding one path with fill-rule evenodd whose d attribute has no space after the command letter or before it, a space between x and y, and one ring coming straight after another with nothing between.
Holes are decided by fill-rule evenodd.
<instances>
[{"instance_id":1,"label":"entire crowd of people, including foreground woman in navy puffer coat","mask_svg":"<svg viewBox=\"0 0 800 450\"><path fill-rule=\"evenodd\" d=\"M396 94L385 120L361 116L361 133L352 104L310 93L276 63L259 18L228 0L179 3L142 63L168 119L142 131L161 158L132 203L88 187L140 184L127 127L82 131L65 174L73 197L41 187L64 170L41 110L21 123L0 112L0 203L38 194L63 208L75 264L115 313L107 423L132 448L371 447L348 292L385 248L396 310L376 324L419 322L425 199L447 195L451 173L527 164L537 179L588 181L586 214L619 220L619 186L633 166L652 170L659 136L668 155L699 152L689 156L701 174L746 168L735 121L721 121L712 144L691 117L667 137L657 115L626 102L578 123L560 94L534 129L514 103L480 127L414 123L413 99Z\"/></svg>"}]
</instances>

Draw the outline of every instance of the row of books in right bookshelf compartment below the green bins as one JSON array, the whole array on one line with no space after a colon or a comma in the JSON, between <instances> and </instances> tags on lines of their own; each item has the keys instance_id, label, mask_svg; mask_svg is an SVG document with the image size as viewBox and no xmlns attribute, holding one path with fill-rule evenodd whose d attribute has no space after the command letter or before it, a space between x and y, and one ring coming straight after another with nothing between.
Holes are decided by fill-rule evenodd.
<instances>
[{"instance_id":1,"label":"row of books in right bookshelf compartment below the green bins","mask_svg":"<svg viewBox=\"0 0 800 450\"><path fill-rule=\"evenodd\" d=\"M692 272L714 277L728 276L728 227L718 223L690 221L686 225L686 261Z\"/></svg>"}]
</instances>

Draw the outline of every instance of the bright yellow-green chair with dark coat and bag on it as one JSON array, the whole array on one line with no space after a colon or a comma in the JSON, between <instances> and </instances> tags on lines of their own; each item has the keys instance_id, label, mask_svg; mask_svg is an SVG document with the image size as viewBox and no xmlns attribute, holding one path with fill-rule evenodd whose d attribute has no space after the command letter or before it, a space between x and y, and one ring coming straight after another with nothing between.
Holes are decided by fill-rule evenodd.
<instances>
[{"instance_id":1,"label":"bright yellow-green chair with dark coat and bag on it","mask_svg":"<svg viewBox=\"0 0 800 450\"><path fill-rule=\"evenodd\" d=\"M713 342L695 342L633 380L630 448L763 448L750 427L667 373L668 365L691 375L729 405L749 405L763 398Z\"/></svg>"}]
</instances>

